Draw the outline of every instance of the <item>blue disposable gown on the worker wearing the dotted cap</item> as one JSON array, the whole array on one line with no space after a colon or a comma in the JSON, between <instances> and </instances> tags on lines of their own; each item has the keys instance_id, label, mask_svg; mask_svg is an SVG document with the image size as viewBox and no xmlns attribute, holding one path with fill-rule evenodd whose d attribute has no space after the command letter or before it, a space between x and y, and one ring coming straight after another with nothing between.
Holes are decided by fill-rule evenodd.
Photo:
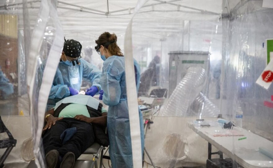
<instances>
[{"instance_id":1,"label":"blue disposable gown on the worker wearing the dotted cap","mask_svg":"<svg viewBox=\"0 0 273 168\"><path fill-rule=\"evenodd\" d=\"M99 83L101 76L100 69L86 60L79 59L78 61L80 64L76 64L75 66L67 61L60 61L51 86L49 99L62 99L69 96L68 86L79 91L83 78L91 82L92 86L101 88Z\"/></svg>"}]
</instances>

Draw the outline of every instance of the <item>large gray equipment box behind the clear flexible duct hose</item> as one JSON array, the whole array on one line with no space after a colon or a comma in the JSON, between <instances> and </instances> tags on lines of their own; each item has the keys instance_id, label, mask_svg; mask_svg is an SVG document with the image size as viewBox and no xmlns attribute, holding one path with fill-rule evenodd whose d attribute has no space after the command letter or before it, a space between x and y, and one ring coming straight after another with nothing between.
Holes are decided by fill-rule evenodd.
<instances>
[{"instance_id":1,"label":"large gray equipment box behind the clear flexible duct hose","mask_svg":"<svg viewBox=\"0 0 273 168\"><path fill-rule=\"evenodd\" d=\"M189 67L201 66L207 74L209 73L209 55L209 52L203 51L171 51L169 53L169 97ZM208 93L208 76L202 92L204 95Z\"/></svg>"}]
</instances>

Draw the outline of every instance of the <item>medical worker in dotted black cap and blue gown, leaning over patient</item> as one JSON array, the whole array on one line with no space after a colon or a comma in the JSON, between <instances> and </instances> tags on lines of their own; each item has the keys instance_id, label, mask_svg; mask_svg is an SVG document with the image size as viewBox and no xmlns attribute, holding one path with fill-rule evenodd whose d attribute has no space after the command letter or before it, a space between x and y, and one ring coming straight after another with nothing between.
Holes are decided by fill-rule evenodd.
<instances>
[{"instance_id":1,"label":"medical worker in dotted black cap and blue gown, leaning over patient","mask_svg":"<svg viewBox=\"0 0 273 168\"><path fill-rule=\"evenodd\" d=\"M66 40L58 65L49 99L65 98L79 93L82 79L92 83L86 95L94 96L100 89L101 71L93 64L81 59L82 45L76 40Z\"/></svg>"}]
</instances>

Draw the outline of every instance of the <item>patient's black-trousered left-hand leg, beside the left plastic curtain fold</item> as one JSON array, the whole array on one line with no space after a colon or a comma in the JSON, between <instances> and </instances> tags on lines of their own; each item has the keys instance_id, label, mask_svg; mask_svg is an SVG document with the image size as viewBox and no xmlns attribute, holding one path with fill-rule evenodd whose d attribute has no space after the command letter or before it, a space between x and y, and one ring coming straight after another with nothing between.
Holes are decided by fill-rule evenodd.
<instances>
[{"instance_id":1,"label":"patient's black-trousered left-hand leg, beside the left plastic curtain fold","mask_svg":"<svg viewBox=\"0 0 273 168\"><path fill-rule=\"evenodd\" d=\"M62 146L62 141L60 135L69 128L69 120L64 118L56 122L54 126L51 126L50 129L46 130L45 135L43 136L43 145L45 154L49 151L56 149L58 150Z\"/></svg>"}]
</instances>

